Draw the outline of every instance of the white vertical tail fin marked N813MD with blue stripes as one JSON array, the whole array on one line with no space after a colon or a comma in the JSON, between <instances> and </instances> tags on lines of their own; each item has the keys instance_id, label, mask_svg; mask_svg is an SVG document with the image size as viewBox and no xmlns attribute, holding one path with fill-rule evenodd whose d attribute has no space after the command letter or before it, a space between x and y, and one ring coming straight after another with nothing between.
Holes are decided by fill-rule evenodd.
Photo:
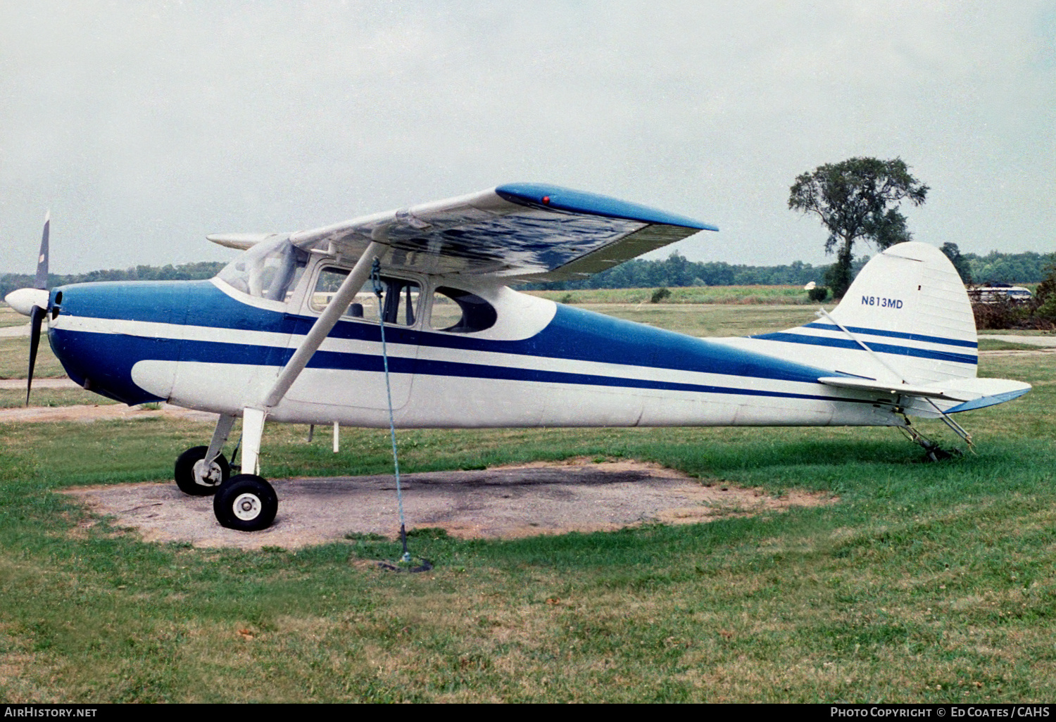
<instances>
[{"instance_id":1,"label":"white vertical tail fin marked N813MD with blue stripes","mask_svg":"<svg viewBox=\"0 0 1056 722\"><path fill-rule=\"evenodd\" d=\"M831 314L734 345L910 384L975 378L979 362L964 284L945 254L924 243L901 243L869 261Z\"/></svg>"}]
</instances>

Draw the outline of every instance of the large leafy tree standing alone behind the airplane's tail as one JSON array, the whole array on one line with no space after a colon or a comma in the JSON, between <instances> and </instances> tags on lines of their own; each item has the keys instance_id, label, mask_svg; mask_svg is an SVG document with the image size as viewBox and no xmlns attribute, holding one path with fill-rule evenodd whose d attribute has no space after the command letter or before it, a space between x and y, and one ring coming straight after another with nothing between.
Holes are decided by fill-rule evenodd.
<instances>
[{"instance_id":1,"label":"large leafy tree standing alone behind the airplane's tail","mask_svg":"<svg viewBox=\"0 0 1056 722\"><path fill-rule=\"evenodd\" d=\"M854 242L867 241L884 250L909 241L912 235L899 206L903 201L921 205L927 191L902 158L850 158L818 166L795 179L789 208L816 214L829 231L825 252L835 253L836 263L826 280L833 296L842 298L851 285Z\"/></svg>"}]
</instances>

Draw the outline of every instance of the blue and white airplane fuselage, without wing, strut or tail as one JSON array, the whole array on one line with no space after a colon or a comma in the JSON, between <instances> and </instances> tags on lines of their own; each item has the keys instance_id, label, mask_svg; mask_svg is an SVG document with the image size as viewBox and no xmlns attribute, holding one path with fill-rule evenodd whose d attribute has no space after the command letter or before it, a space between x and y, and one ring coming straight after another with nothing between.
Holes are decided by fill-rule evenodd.
<instances>
[{"instance_id":1,"label":"blue and white airplane fuselage, without wing, strut or tail","mask_svg":"<svg viewBox=\"0 0 1056 722\"><path fill-rule=\"evenodd\" d=\"M309 264L282 301L221 279L56 288L49 339L70 377L94 392L237 416L267 394L318 318L323 263ZM869 394L817 382L840 375L833 369L505 286L460 282L492 309L487 327L434 327L444 300L437 289L450 294L459 282L423 276L408 283L417 284L414 299L407 294L414 318L384 326L399 426L902 423ZM381 331L377 316L342 318L268 418L388 425Z\"/></svg>"}]
</instances>

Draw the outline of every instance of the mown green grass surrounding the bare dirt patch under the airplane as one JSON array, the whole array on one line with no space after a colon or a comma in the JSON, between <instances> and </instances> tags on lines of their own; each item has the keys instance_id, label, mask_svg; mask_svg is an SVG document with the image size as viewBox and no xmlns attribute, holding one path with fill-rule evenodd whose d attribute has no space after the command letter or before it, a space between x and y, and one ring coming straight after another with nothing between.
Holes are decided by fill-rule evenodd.
<instances>
[{"instance_id":1,"label":"mown green grass surrounding the bare dirt patch under the airplane","mask_svg":"<svg viewBox=\"0 0 1056 722\"><path fill-rule=\"evenodd\" d=\"M807 308L649 305L610 312L699 335L812 319ZM421 530L412 550L436 568L414 575L367 564L398 555L379 539L296 553L144 544L55 493L170 479L208 424L5 424L0 699L1050 700L1056 368L1049 356L1010 355L984 358L981 375L1035 388L960 415L978 451L942 463L922 463L892 430L400 432L408 472L637 458L704 482L836 499L515 542ZM391 469L383 431L343 430L338 455L328 439L303 439L300 426L267 428L271 476Z\"/></svg>"}]
</instances>

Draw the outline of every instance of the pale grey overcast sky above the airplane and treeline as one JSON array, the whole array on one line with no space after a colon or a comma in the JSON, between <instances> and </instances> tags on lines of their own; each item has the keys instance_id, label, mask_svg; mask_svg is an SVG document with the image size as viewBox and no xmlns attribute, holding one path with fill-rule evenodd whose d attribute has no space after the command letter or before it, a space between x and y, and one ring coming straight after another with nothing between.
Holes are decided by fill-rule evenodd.
<instances>
[{"instance_id":1,"label":"pale grey overcast sky above the airplane and treeline","mask_svg":"<svg viewBox=\"0 0 1056 722\"><path fill-rule=\"evenodd\" d=\"M1051 252L1054 131L1052 0L0 0L0 272L48 208L64 273L518 180L718 225L691 260L828 263L789 186L855 155L930 186L919 241Z\"/></svg>"}]
</instances>

